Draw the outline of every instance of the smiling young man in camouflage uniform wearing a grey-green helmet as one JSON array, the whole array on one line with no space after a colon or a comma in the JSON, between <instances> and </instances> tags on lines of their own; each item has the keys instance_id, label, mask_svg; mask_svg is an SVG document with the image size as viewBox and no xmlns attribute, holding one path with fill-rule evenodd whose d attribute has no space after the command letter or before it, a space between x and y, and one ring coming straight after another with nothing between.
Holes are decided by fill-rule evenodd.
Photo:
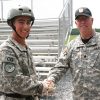
<instances>
[{"instance_id":1,"label":"smiling young man in camouflage uniform wearing a grey-green helmet","mask_svg":"<svg viewBox=\"0 0 100 100\"><path fill-rule=\"evenodd\" d=\"M11 36L0 46L0 100L37 100L45 90L39 83L32 52L25 42L34 23L30 8L11 9L7 23Z\"/></svg>"}]
</instances>

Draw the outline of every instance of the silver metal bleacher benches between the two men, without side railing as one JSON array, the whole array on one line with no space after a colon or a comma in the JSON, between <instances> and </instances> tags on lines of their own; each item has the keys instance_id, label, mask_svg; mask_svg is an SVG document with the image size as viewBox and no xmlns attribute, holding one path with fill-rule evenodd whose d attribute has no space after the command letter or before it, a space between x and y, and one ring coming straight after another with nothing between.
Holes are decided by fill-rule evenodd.
<instances>
[{"instance_id":1,"label":"silver metal bleacher benches between the two men, without side railing","mask_svg":"<svg viewBox=\"0 0 100 100\"><path fill-rule=\"evenodd\" d=\"M36 20L31 30L28 42L33 50L33 58L40 79L46 78L48 71L57 61L58 30L58 19Z\"/></svg>"}]
</instances>

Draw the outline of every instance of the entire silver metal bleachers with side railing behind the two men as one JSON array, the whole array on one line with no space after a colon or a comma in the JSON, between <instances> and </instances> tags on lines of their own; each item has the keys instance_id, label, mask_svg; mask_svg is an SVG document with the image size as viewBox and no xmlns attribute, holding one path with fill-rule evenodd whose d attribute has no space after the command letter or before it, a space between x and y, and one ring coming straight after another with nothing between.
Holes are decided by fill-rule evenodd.
<instances>
[{"instance_id":1,"label":"entire silver metal bleachers with side railing behind the two men","mask_svg":"<svg viewBox=\"0 0 100 100\"><path fill-rule=\"evenodd\" d=\"M55 65L64 41L72 28L72 0L66 0L58 18L36 19L27 43L33 52L39 79L46 78L48 71ZM11 34L6 21L0 21L0 44Z\"/></svg>"}]
</instances>

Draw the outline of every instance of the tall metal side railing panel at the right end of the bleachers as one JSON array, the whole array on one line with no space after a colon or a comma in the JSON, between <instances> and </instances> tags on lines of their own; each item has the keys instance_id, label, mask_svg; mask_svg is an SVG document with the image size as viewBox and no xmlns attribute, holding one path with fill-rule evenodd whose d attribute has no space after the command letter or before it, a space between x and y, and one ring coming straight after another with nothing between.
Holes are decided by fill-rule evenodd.
<instances>
[{"instance_id":1,"label":"tall metal side railing panel at the right end of the bleachers","mask_svg":"<svg viewBox=\"0 0 100 100\"><path fill-rule=\"evenodd\" d=\"M65 39L68 39L72 29L72 0L67 0L59 15L59 51L65 47Z\"/></svg>"}]
</instances>

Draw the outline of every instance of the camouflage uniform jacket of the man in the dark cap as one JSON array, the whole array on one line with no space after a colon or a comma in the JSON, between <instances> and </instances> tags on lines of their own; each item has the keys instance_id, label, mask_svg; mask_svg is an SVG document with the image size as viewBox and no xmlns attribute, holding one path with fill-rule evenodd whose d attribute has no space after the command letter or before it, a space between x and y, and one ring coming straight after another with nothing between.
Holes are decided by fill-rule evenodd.
<instances>
[{"instance_id":1,"label":"camouflage uniform jacket of the man in the dark cap","mask_svg":"<svg viewBox=\"0 0 100 100\"><path fill-rule=\"evenodd\" d=\"M100 34L84 44L78 36L67 45L48 79L55 83L70 68L73 100L100 100Z\"/></svg>"}]
</instances>

